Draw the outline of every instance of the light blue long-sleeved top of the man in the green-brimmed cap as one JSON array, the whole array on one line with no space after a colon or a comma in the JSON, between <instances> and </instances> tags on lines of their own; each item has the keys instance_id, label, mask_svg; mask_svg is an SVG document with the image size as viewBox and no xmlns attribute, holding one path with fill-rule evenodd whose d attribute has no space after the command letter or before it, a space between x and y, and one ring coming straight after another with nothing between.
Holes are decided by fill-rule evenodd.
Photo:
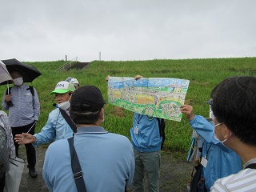
<instances>
[{"instance_id":1,"label":"light blue long-sleeved top of the man in the green-brimmed cap","mask_svg":"<svg viewBox=\"0 0 256 192\"><path fill-rule=\"evenodd\" d=\"M46 125L42 127L41 132L34 134L34 137L36 137L37 140L32 144L38 146L52 142L53 140L56 141L62 138L71 138L72 136L73 130L70 128L65 118L63 118L59 108L57 108L50 112Z\"/></svg>"}]
</instances>

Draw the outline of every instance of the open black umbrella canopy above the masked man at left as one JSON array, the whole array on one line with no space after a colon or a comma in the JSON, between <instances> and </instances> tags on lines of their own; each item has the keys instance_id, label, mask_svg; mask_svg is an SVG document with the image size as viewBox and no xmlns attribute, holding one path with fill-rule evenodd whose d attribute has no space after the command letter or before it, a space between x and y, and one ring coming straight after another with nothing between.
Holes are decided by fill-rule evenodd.
<instances>
[{"instance_id":1,"label":"open black umbrella canopy above the masked man at left","mask_svg":"<svg viewBox=\"0 0 256 192\"><path fill-rule=\"evenodd\" d=\"M19 62L16 58L2 60L2 62L6 64L6 68L10 74L13 71L18 71L22 74L23 82L32 82L35 78L41 75L34 66L26 65L24 62Z\"/></svg>"}]
</instances>

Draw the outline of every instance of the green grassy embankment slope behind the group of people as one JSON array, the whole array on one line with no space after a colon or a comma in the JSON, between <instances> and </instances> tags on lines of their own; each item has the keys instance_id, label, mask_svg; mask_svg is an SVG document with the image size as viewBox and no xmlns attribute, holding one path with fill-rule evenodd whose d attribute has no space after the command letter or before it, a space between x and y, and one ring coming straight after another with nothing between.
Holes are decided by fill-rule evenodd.
<instances>
[{"instance_id":1,"label":"green grassy embankment slope behind the group of people","mask_svg":"<svg viewBox=\"0 0 256 192\"><path fill-rule=\"evenodd\" d=\"M53 95L57 82L68 77L78 79L80 86L94 85L102 90L107 101L107 84L105 78L108 74L116 77L134 77L141 74L145 78L183 78L190 80L186 94L186 104L194 106L194 113L204 117L209 116L210 91L224 78L236 75L256 76L256 58L209 58L209 59L182 59L182 60L150 60L127 62L90 62L83 70L69 70L55 72L65 61L55 62L26 62L35 66L42 75L34 80L32 85L38 91L41 103L41 114L37 125L37 132L46 124L48 114L54 110ZM3 94L6 86L0 86ZM106 104L105 122L106 130L130 138L133 112L122 110L116 106ZM191 128L185 116L181 122L166 120L165 150L187 152L190 146Z\"/></svg>"}]
</instances>

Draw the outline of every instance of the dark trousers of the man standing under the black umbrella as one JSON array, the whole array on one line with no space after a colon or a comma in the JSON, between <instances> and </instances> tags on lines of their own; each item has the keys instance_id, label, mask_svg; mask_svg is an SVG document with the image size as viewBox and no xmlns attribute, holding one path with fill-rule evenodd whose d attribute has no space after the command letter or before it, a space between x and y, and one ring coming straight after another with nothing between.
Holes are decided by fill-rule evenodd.
<instances>
[{"instance_id":1,"label":"dark trousers of the man standing under the black umbrella","mask_svg":"<svg viewBox=\"0 0 256 192\"><path fill-rule=\"evenodd\" d=\"M28 130L30 130L31 126L33 126L34 122L30 123L29 125L26 126L18 126L18 127L12 127L11 130L13 132L13 136L15 138L16 134L22 134L22 133L26 133ZM35 125L33 126L33 128L30 130L29 134L34 134L34 129L35 129ZM15 150L16 150L16 155L18 156L18 143L14 141L14 146L15 146ZM29 144L25 144L26 146L26 158L27 158L27 162L28 162L28 168L29 169L34 169L35 163L36 163L36 156L35 156L35 149L34 146L29 143Z\"/></svg>"}]
</instances>

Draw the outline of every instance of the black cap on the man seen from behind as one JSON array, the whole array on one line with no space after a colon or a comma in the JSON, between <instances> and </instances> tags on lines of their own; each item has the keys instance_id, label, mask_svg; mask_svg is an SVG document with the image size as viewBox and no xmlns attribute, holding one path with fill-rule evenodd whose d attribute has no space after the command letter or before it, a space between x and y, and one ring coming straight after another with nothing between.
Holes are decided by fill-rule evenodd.
<instances>
[{"instance_id":1,"label":"black cap on the man seen from behind","mask_svg":"<svg viewBox=\"0 0 256 192\"><path fill-rule=\"evenodd\" d=\"M70 106L73 111L95 112L106 104L101 90L96 86L81 86L71 96Z\"/></svg>"}]
</instances>

